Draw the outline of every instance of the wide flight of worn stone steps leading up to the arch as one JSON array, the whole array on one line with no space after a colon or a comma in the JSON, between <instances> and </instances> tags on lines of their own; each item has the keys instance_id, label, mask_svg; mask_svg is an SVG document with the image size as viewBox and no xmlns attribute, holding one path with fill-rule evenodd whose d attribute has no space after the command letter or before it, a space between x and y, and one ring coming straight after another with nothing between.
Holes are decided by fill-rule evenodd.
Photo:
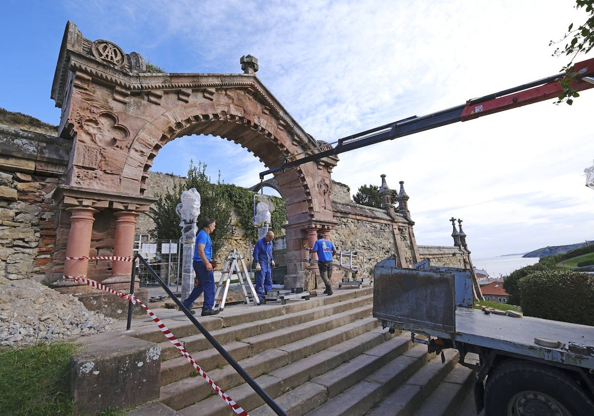
<instances>
[{"instance_id":1,"label":"wide flight of worn stone steps leading up to the arch","mask_svg":"<svg viewBox=\"0 0 594 416\"><path fill-rule=\"evenodd\" d=\"M473 372L457 363L458 352L446 350L442 364L410 333L391 335L371 316L372 298L372 288L341 289L285 305L226 305L219 315L197 319L287 415L475 415L468 405ZM208 376L250 415L274 415L175 313L164 322ZM128 416L235 415L156 326L134 336L162 348L160 403Z\"/></svg>"}]
</instances>

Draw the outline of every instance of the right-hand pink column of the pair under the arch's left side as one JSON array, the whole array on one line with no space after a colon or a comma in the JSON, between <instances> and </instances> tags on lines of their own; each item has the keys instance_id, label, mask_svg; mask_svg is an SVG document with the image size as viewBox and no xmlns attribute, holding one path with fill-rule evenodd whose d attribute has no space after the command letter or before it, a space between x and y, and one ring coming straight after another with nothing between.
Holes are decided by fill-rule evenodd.
<instances>
[{"instance_id":1,"label":"right-hand pink column of the pair under the arch's left side","mask_svg":"<svg viewBox=\"0 0 594 416\"><path fill-rule=\"evenodd\" d=\"M134 235L136 233L136 218L138 214L130 211L118 211L113 215L118 218L115 221L113 256L134 256ZM113 260L112 278L125 276L129 280L131 273L132 261Z\"/></svg>"}]
</instances>

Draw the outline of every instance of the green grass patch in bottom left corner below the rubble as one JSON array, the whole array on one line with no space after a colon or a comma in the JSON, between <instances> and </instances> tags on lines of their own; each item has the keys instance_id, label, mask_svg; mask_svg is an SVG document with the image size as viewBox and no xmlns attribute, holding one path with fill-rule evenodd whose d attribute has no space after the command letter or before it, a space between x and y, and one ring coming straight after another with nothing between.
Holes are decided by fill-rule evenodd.
<instances>
[{"instance_id":1,"label":"green grass patch in bottom left corner below the rubble","mask_svg":"<svg viewBox=\"0 0 594 416\"><path fill-rule=\"evenodd\" d=\"M0 350L0 414L69 415L72 412L68 342Z\"/></svg>"}]
</instances>

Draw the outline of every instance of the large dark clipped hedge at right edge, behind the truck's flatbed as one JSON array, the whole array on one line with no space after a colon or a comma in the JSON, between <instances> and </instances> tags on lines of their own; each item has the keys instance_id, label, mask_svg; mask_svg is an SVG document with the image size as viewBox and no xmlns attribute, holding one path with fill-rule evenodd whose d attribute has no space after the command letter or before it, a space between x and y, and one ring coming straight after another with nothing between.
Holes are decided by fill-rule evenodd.
<instances>
[{"instance_id":1,"label":"large dark clipped hedge at right edge, behind the truck's flatbed","mask_svg":"<svg viewBox=\"0 0 594 416\"><path fill-rule=\"evenodd\" d=\"M523 277L517 286L527 316L594 326L594 276L548 270Z\"/></svg>"}]
</instances>

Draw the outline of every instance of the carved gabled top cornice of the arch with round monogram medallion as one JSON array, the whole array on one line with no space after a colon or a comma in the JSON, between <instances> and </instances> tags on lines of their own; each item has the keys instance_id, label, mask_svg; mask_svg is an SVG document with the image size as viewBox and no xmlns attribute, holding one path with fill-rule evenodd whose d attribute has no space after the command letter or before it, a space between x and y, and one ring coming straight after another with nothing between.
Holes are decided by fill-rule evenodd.
<instances>
[{"instance_id":1,"label":"carved gabled top cornice of the arch with round monogram medallion","mask_svg":"<svg viewBox=\"0 0 594 416\"><path fill-rule=\"evenodd\" d=\"M244 57L245 58L245 57ZM86 39L76 24L68 21L62 39L58 64L52 84L51 98L63 108L69 99L72 84L90 88L91 83L113 86L113 99L127 103L131 96L147 94L147 100L160 105L165 92L176 92L178 100L189 102L192 94L213 100L217 90L225 94L244 94L262 105L261 112L279 119L279 127L291 132L294 144L304 152L317 149L320 142L306 133L289 112L252 73L246 74L190 74L149 73L142 55L125 53L108 40ZM73 75L75 74L75 75ZM75 79L72 79L72 78ZM334 167L338 157L328 156L324 164Z\"/></svg>"}]
</instances>

